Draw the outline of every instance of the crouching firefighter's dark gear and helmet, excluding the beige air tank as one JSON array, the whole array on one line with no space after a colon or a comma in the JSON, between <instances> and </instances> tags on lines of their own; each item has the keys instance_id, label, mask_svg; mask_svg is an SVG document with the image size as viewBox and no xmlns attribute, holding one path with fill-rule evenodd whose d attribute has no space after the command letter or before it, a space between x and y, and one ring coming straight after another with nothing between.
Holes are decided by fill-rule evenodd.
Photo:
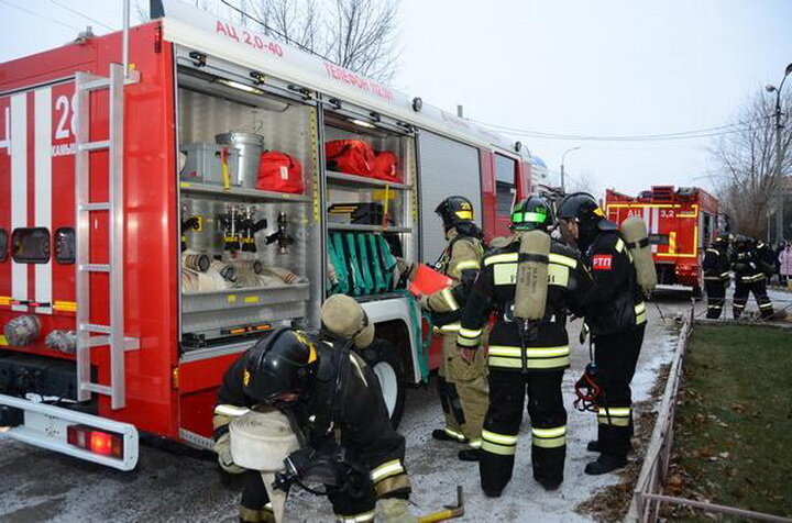
<instances>
[{"instance_id":1,"label":"crouching firefighter's dark gear and helmet, excluding the beige air tank","mask_svg":"<svg viewBox=\"0 0 792 523\"><path fill-rule=\"evenodd\" d=\"M359 334L365 330L361 324ZM327 487L338 521L374 521L377 499L394 500L387 503L386 521L410 521L404 437L391 425L376 377L358 355L340 349L343 343L283 329L240 356L218 391L218 454L226 453L233 418L256 405L276 407L293 420L305 447L336 445L354 461L346 469L356 472L345 483ZM245 474L240 520L274 521L261 475Z\"/></svg>"}]
</instances>

